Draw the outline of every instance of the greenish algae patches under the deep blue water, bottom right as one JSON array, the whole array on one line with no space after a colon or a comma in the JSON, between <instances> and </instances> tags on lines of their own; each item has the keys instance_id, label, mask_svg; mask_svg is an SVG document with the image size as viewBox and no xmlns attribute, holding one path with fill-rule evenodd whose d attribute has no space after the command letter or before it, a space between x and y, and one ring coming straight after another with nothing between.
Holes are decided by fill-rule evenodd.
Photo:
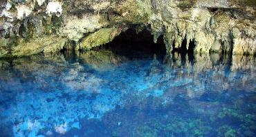
<instances>
[{"instance_id":1,"label":"greenish algae patches under the deep blue water, bottom right","mask_svg":"<svg viewBox=\"0 0 256 137\"><path fill-rule=\"evenodd\" d=\"M183 119L183 118L168 118L165 122L161 122L161 118L148 120L144 125L140 125L136 128L136 136L159 136L159 134L164 134L165 136L205 136L205 134L217 134L218 136L242 136L242 135L253 135L255 126L253 125L255 121L255 116L251 114L241 115L238 111L233 109L223 109L222 116L217 118L212 118L210 123L216 123L219 125L219 120L226 118L226 116L231 116L235 118L233 120L240 120L243 124L237 127L232 127L231 125L220 125L219 128L214 129L208 127L209 123L201 120L201 118L196 119ZM214 116L214 114L210 114Z\"/></svg>"}]
</instances>

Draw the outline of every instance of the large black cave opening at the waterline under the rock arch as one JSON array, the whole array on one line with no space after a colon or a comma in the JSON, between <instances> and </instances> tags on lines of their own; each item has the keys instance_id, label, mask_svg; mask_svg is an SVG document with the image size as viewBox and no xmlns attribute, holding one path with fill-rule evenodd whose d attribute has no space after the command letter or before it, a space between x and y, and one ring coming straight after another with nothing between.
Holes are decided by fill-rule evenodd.
<instances>
[{"instance_id":1,"label":"large black cave opening at the waterline under the rock arch","mask_svg":"<svg viewBox=\"0 0 256 137\"><path fill-rule=\"evenodd\" d=\"M128 29L116 36L113 41L102 45L93 50L104 49L111 50L120 56L126 56L129 59L140 59L145 57L157 56L163 59L166 55L165 43L163 36L159 36L154 43L154 36L149 30L136 32L134 29Z\"/></svg>"}]
</instances>

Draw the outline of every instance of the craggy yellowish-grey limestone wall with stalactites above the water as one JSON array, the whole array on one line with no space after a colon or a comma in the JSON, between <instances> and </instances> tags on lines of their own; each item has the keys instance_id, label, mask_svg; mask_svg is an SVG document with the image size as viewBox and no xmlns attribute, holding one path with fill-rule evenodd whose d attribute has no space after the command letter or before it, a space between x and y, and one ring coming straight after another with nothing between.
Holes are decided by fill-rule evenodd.
<instances>
[{"instance_id":1,"label":"craggy yellowish-grey limestone wall with stalactites above the water","mask_svg":"<svg viewBox=\"0 0 256 137\"><path fill-rule=\"evenodd\" d=\"M253 0L3 0L0 57L90 50L120 32L163 35L170 53L186 41L194 52L256 53Z\"/></svg>"}]
</instances>

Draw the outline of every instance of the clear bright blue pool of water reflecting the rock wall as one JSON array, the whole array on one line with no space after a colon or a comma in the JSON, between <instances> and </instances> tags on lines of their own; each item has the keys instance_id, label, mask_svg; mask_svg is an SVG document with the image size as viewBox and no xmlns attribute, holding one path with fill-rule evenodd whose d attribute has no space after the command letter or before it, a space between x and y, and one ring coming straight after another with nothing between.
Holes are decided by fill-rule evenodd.
<instances>
[{"instance_id":1,"label":"clear bright blue pool of water reflecting the rock wall","mask_svg":"<svg viewBox=\"0 0 256 137\"><path fill-rule=\"evenodd\" d=\"M0 60L0 136L256 136L253 56Z\"/></svg>"}]
</instances>

